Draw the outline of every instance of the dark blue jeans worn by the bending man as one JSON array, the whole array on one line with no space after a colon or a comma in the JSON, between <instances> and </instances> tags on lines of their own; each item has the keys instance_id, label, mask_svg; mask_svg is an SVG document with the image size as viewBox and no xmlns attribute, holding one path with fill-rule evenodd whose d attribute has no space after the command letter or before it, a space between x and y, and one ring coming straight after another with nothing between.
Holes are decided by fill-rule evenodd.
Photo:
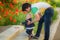
<instances>
[{"instance_id":1,"label":"dark blue jeans worn by the bending man","mask_svg":"<svg viewBox=\"0 0 60 40\"><path fill-rule=\"evenodd\" d=\"M40 21L38 23L38 29L36 32L36 37L40 36L40 32L42 29L42 24L44 23L44 31L45 31L45 38L44 40L49 40L49 35L50 35L50 24L51 24L51 18L54 14L53 8L48 8L45 10L44 16L40 18Z\"/></svg>"}]
</instances>

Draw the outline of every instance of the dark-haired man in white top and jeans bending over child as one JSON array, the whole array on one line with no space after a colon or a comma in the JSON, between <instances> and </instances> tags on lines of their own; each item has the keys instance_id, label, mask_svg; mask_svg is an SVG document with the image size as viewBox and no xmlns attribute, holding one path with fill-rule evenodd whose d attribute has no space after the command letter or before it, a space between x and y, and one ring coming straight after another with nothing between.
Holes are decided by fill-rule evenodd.
<instances>
[{"instance_id":1,"label":"dark-haired man in white top and jeans bending over child","mask_svg":"<svg viewBox=\"0 0 60 40\"><path fill-rule=\"evenodd\" d=\"M33 38L39 38L42 29L42 24L44 22L44 40L49 40L51 18L54 14L52 6L45 2L39 2L32 5L29 3L24 3L22 5L22 11L25 13L29 13L31 11L33 14L35 14L34 20L32 22L29 21L28 25L34 22L39 22L36 35Z\"/></svg>"}]
</instances>

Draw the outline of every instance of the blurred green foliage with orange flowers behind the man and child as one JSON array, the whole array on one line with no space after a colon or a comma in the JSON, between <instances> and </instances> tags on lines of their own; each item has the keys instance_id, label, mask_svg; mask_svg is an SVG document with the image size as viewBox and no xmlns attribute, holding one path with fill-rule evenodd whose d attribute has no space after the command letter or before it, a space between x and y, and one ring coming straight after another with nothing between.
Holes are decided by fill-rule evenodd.
<instances>
[{"instance_id":1,"label":"blurred green foliage with orange flowers behind the man and child","mask_svg":"<svg viewBox=\"0 0 60 40\"><path fill-rule=\"evenodd\" d=\"M26 13L22 12L21 6L25 2L30 4L47 2L51 4L54 9L56 7L60 7L60 0L0 0L0 26L19 25L22 21L24 21ZM55 10L52 20L55 20L56 16L57 11Z\"/></svg>"}]
</instances>

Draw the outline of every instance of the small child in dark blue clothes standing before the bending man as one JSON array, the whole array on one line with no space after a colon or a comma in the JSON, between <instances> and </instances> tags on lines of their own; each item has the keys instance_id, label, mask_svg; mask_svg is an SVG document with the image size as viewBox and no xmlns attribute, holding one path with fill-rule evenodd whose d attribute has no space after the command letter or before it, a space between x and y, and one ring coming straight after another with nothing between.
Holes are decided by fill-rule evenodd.
<instances>
[{"instance_id":1,"label":"small child in dark blue clothes standing before the bending man","mask_svg":"<svg viewBox=\"0 0 60 40\"><path fill-rule=\"evenodd\" d=\"M30 22L32 21L32 15L31 15L31 14L27 14L25 22L22 23L22 24L24 24L25 27L26 27L26 33L27 33L27 34L29 35L29 37L31 38L31 36L32 36L32 30L33 30L33 27L34 27L34 23L28 25L28 24L27 24L28 21L30 21Z\"/></svg>"}]
</instances>

